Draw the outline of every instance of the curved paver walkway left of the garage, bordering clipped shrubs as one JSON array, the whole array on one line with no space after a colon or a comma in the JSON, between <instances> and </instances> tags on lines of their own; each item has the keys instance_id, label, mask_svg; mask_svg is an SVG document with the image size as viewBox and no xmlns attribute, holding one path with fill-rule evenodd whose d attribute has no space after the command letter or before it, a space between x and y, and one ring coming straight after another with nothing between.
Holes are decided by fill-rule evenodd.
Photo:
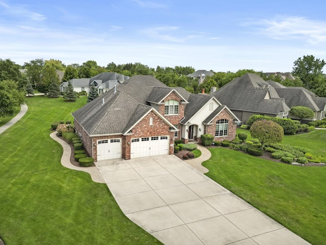
<instances>
[{"instance_id":1,"label":"curved paver walkway left of the garage, bordering clipped shrubs","mask_svg":"<svg viewBox=\"0 0 326 245\"><path fill-rule=\"evenodd\" d=\"M100 175L99 171L97 170L96 167L77 167L70 162L70 155L71 155L71 148L70 145L67 144L64 140L58 138L57 132L53 132L50 134L50 137L54 140L56 140L58 143L61 144L63 148L63 154L61 157L61 164L64 167L78 170L78 171L83 171L91 175L91 178L94 182L96 183L105 183L103 180L102 176Z\"/></svg>"}]
</instances>

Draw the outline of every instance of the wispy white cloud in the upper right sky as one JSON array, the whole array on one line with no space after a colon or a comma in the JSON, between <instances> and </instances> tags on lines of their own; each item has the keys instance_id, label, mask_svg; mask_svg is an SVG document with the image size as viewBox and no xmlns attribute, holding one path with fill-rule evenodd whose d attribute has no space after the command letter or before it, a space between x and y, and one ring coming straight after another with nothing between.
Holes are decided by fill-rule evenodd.
<instances>
[{"instance_id":1,"label":"wispy white cloud in the upper right sky","mask_svg":"<svg viewBox=\"0 0 326 245\"><path fill-rule=\"evenodd\" d=\"M260 34L273 39L302 39L311 44L326 41L326 22L298 16L276 16L274 19L246 21L244 26L256 26Z\"/></svg>"}]
</instances>

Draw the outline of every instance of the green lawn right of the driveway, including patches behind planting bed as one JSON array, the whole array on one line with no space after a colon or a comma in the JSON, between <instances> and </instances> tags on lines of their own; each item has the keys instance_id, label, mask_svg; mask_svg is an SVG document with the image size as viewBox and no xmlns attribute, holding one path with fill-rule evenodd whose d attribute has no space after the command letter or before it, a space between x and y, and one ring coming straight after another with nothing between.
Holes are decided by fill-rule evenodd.
<instances>
[{"instance_id":1,"label":"green lawn right of the driveway, including patches behind planting bed","mask_svg":"<svg viewBox=\"0 0 326 245\"><path fill-rule=\"evenodd\" d=\"M248 130L237 130L237 133ZM326 131L285 136L282 143L323 155ZM206 174L312 244L326 244L326 167L264 160L226 148L209 149Z\"/></svg>"}]
</instances>

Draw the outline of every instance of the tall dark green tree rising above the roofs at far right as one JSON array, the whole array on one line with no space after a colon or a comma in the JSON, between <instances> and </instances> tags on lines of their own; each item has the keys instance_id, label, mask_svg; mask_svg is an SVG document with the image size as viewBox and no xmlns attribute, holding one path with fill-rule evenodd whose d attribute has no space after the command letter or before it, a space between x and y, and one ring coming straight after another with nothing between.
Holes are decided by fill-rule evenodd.
<instances>
[{"instance_id":1,"label":"tall dark green tree rising above the roofs at far right","mask_svg":"<svg viewBox=\"0 0 326 245\"><path fill-rule=\"evenodd\" d=\"M312 87L314 80L322 74L324 60L315 59L313 55L307 55L294 61L292 74L299 77L307 89Z\"/></svg>"}]
</instances>

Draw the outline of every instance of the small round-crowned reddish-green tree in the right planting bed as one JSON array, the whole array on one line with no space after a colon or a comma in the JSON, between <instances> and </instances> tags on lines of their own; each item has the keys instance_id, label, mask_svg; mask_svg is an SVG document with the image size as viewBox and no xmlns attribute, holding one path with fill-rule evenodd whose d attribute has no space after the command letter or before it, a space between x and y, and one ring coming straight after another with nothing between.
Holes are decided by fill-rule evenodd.
<instances>
[{"instance_id":1,"label":"small round-crowned reddish-green tree in the right planting bed","mask_svg":"<svg viewBox=\"0 0 326 245\"><path fill-rule=\"evenodd\" d=\"M261 149L265 143L279 143L284 136L283 128L274 121L256 121L250 127L251 137L257 138L261 143Z\"/></svg>"}]
</instances>

